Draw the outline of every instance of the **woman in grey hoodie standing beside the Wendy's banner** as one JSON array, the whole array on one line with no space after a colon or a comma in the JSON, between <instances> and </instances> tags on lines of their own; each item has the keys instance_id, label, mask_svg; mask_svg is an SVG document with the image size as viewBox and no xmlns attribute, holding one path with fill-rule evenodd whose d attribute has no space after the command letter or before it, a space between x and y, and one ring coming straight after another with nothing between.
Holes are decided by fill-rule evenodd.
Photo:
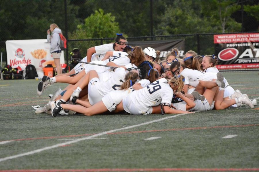
<instances>
[{"instance_id":1,"label":"woman in grey hoodie standing beside the Wendy's banner","mask_svg":"<svg viewBox=\"0 0 259 172\"><path fill-rule=\"evenodd\" d=\"M58 45L60 42L59 34L62 34L62 32L58 25L55 23L50 24L49 29L47 30L47 42L50 43L50 53L54 59L57 74L62 73L62 68L60 66L61 49Z\"/></svg>"}]
</instances>

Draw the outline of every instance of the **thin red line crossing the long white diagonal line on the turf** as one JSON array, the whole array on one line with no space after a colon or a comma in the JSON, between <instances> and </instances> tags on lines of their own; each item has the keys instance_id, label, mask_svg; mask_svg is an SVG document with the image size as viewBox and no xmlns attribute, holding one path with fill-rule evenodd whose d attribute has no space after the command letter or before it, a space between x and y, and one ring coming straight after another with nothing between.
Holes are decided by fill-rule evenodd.
<instances>
[{"instance_id":1,"label":"thin red line crossing the long white diagonal line on the turf","mask_svg":"<svg viewBox=\"0 0 259 172\"><path fill-rule=\"evenodd\" d=\"M235 125L235 126L214 126L214 127L194 127L194 128L172 128L172 129L163 129L163 130L142 130L142 131L129 131L129 132L114 132L114 133L107 133L107 134L133 134L133 133L144 133L144 132L199 130L199 129L211 129L211 128L232 128L232 127L248 127L248 126L259 126L259 124L247 124L247 125ZM14 140L3 140L3 141L0 141L0 142L4 142L4 141L23 141L23 140L40 140L40 139L64 138L64 137L80 137L80 136L91 136L91 135L94 135L94 134L50 136L50 137L38 137L38 138L20 138L20 139L14 139Z\"/></svg>"}]
</instances>

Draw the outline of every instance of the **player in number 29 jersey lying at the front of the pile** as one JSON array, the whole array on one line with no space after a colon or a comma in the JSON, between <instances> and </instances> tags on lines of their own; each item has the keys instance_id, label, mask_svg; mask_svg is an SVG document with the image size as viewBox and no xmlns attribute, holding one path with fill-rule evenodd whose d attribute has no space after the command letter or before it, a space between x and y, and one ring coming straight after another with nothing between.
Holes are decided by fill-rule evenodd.
<instances>
[{"instance_id":1,"label":"player in number 29 jersey lying at the front of the pile","mask_svg":"<svg viewBox=\"0 0 259 172\"><path fill-rule=\"evenodd\" d=\"M182 77L177 80L182 80ZM155 114L161 113L161 108L157 105L162 103L166 114L190 113L170 108L174 94L173 88L176 89L176 83L161 78L143 89L130 93L123 98L122 103L117 108L123 106L123 109L130 114ZM180 85L178 89L182 89Z\"/></svg>"}]
</instances>

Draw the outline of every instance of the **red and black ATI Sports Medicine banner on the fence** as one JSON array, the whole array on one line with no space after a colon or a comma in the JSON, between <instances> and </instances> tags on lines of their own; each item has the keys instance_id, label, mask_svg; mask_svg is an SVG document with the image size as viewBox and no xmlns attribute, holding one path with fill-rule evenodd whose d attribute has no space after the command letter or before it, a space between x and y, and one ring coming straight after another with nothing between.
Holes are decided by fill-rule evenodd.
<instances>
[{"instance_id":1,"label":"red and black ATI Sports Medicine banner on the fence","mask_svg":"<svg viewBox=\"0 0 259 172\"><path fill-rule=\"evenodd\" d=\"M259 33L214 35L218 69L259 68Z\"/></svg>"}]
</instances>

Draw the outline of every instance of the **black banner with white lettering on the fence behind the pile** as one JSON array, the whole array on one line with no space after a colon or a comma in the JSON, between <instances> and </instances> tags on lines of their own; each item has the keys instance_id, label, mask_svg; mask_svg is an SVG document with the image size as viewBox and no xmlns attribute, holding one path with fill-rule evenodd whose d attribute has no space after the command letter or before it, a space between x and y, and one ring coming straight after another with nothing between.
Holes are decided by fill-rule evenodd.
<instances>
[{"instance_id":1,"label":"black banner with white lettering on the fence behind the pile","mask_svg":"<svg viewBox=\"0 0 259 172\"><path fill-rule=\"evenodd\" d=\"M173 48L177 48L179 50L179 55L183 56L184 54L184 40L159 40L159 41L135 41L129 42L129 45L132 46L141 46L142 49L151 47L155 50L159 50L160 58L164 58L168 52L170 52Z\"/></svg>"}]
</instances>

